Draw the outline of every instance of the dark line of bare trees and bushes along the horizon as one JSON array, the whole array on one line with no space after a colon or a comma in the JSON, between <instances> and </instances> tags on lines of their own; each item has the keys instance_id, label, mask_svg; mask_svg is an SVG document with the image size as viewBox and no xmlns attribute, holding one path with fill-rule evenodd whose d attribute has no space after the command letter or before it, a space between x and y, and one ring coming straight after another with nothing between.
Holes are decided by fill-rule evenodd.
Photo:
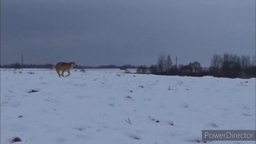
<instances>
[{"instance_id":1,"label":"dark line of bare trees and bushes along the horizon","mask_svg":"<svg viewBox=\"0 0 256 144\"><path fill-rule=\"evenodd\" d=\"M156 62L150 67L142 66L77 66L78 69L103 69L103 68L119 68L126 70L136 68L139 74L157 74L157 75L178 75L178 76L215 76L225 78L252 78L256 77L255 56L238 56L236 54L225 53L223 55L214 54L211 58L211 66L202 68L199 62L190 62L187 65L172 64L170 55L167 57L161 54ZM1 68L54 68L53 64L23 64L19 63L0 65ZM125 71L129 73L128 70Z\"/></svg>"}]
</instances>

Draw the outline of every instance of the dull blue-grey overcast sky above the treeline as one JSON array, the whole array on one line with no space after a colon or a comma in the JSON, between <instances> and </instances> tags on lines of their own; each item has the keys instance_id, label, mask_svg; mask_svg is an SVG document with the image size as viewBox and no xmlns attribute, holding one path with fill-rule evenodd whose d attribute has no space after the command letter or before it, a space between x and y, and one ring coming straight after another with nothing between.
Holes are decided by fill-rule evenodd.
<instances>
[{"instance_id":1,"label":"dull blue-grey overcast sky above the treeline","mask_svg":"<svg viewBox=\"0 0 256 144\"><path fill-rule=\"evenodd\" d=\"M1 64L210 66L254 55L255 0L1 0Z\"/></svg>"}]
</instances>

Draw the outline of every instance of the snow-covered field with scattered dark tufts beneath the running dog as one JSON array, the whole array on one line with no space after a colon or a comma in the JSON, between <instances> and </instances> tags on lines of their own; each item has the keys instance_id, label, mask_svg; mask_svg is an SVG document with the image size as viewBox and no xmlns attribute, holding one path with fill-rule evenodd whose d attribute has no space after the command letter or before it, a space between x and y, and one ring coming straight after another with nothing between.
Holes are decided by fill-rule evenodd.
<instances>
[{"instance_id":1,"label":"snow-covered field with scattered dark tufts beneath the running dog","mask_svg":"<svg viewBox=\"0 0 256 144\"><path fill-rule=\"evenodd\" d=\"M195 144L201 130L255 130L255 78L0 72L1 144Z\"/></svg>"}]
</instances>

